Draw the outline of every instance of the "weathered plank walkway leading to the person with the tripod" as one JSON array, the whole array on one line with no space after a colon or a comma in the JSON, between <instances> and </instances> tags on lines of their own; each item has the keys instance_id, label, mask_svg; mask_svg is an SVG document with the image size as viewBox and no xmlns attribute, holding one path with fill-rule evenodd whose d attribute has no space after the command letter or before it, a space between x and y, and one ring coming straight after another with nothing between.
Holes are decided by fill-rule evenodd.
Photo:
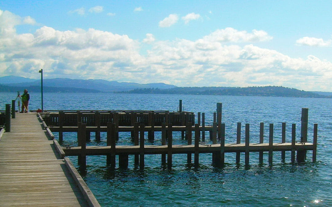
<instances>
[{"instance_id":1,"label":"weathered plank walkway leading to the person with the tripod","mask_svg":"<svg viewBox=\"0 0 332 207\"><path fill-rule=\"evenodd\" d=\"M36 113L11 119L0 141L0 206L93 206L46 134Z\"/></svg>"}]
</instances>

